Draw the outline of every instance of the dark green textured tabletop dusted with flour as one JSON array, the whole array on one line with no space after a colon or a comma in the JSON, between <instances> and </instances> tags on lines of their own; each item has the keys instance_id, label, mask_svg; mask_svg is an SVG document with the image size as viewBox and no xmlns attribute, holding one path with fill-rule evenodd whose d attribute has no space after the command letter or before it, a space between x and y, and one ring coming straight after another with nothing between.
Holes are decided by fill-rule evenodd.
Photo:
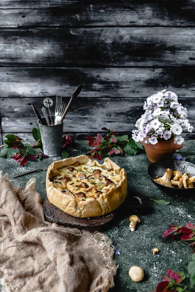
<instances>
[{"instance_id":1,"label":"dark green textured tabletop dusted with flour","mask_svg":"<svg viewBox=\"0 0 195 292\"><path fill-rule=\"evenodd\" d=\"M89 146L85 141L77 141L74 149L70 150L70 156L86 154ZM182 149L178 151L186 161L195 164L195 141L186 141ZM174 155L176 157L176 154ZM173 158L174 158L173 157ZM13 159L0 159L0 170L3 174L8 173L9 179L12 175L21 171L44 167L53 161L62 159L61 156L43 159L41 162L28 162L24 167ZM187 265L192 257L192 250L188 242L165 239L162 234L169 229L171 224L185 225L187 222L195 222L195 200L191 196L183 198L168 195L158 189L147 175L147 168L150 164L145 153L137 156L114 156L112 158L121 168L125 168L128 178L129 197L125 203L124 212L112 222L103 232L112 239L113 245L120 251L115 256L118 265L115 277L115 288L112 292L150 292L155 290L157 283L162 279L166 269L173 269L178 272L187 273ZM36 190L42 199L46 197L45 171L25 175L15 179L24 186L31 178L36 178ZM138 196L141 199L163 199L170 201L170 205L157 205L149 200L152 212L147 215L138 214L141 223L137 230L131 232L129 229L129 216L132 215L128 204L131 203L131 196ZM157 247L159 254L153 255L152 249ZM129 275L129 268L133 265L140 266L145 271L142 282L133 282Z\"/></svg>"}]
</instances>

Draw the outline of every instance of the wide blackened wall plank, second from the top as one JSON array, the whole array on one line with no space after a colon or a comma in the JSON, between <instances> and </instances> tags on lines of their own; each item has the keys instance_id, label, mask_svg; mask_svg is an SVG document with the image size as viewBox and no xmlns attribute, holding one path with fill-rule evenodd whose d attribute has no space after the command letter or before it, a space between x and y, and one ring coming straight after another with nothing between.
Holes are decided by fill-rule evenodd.
<instances>
[{"instance_id":1,"label":"wide blackened wall plank, second from the top","mask_svg":"<svg viewBox=\"0 0 195 292\"><path fill-rule=\"evenodd\" d=\"M195 65L195 28L3 28L0 66Z\"/></svg>"}]
</instances>

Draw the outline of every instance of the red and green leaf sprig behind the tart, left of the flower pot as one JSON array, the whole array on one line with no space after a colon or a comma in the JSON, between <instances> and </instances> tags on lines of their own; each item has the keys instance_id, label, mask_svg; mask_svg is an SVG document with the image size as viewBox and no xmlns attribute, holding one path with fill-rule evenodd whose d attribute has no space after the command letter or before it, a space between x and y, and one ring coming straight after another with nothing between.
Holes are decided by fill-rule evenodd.
<instances>
[{"instance_id":1,"label":"red and green leaf sprig behind the tart, left of the flower pot","mask_svg":"<svg viewBox=\"0 0 195 292\"><path fill-rule=\"evenodd\" d=\"M87 144L90 147L95 147L92 151L88 152L91 159L97 158L102 160L104 156L113 156L122 154L123 151L128 155L136 155L140 149L143 149L139 142L135 142L132 137L128 138L128 135L117 136L113 130L108 128L101 128L107 131L105 137L102 137L100 133L93 137L87 135Z\"/></svg>"}]
</instances>

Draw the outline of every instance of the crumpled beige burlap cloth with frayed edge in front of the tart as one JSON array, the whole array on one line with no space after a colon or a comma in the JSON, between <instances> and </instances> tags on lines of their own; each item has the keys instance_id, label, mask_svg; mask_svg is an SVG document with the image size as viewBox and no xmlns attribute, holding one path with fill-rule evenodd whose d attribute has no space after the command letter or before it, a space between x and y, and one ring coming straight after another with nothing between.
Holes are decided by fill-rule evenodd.
<instances>
[{"instance_id":1,"label":"crumpled beige burlap cloth with frayed edge in front of the tart","mask_svg":"<svg viewBox=\"0 0 195 292\"><path fill-rule=\"evenodd\" d=\"M108 237L44 220L31 179L0 178L0 276L8 292L106 292L117 267Z\"/></svg>"}]
</instances>

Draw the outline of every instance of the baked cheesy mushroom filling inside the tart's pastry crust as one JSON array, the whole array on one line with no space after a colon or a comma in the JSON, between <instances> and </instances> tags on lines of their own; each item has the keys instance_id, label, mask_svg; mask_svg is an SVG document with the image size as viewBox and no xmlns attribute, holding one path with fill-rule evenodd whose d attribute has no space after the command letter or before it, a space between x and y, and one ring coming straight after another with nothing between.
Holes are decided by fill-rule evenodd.
<instances>
[{"instance_id":1,"label":"baked cheesy mushroom filling inside the tart's pastry crust","mask_svg":"<svg viewBox=\"0 0 195 292\"><path fill-rule=\"evenodd\" d=\"M58 169L58 174L50 178L50 181L62 193L74 196L77 201L85 201L92 197L98 199L103 193L116 187L121 179L112 166L108 169L76 163Z\"/></svg>"}]
</instances>

